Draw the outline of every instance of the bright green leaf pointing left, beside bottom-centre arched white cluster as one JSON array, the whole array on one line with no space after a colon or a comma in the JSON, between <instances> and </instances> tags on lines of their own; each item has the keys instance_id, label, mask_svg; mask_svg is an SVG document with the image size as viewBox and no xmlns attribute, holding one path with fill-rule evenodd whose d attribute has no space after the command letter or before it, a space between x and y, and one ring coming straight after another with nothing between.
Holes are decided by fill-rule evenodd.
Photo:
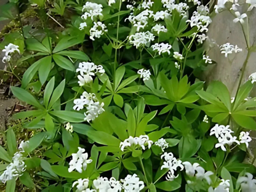
<instances>
[{"instance_id":1,"label":"bright green leaf pointing left, beside bottom-centre arched white cluster","mask_svg":"<svg viewBox=\"0 0 256 192\"><path fill-rule=\"evenodd\" d=\"M89 130L87 136L94 142L101 145L119 146L121 140L114 137L113 135L107 134L102 131Z\"/></svg>"}]
</instances>

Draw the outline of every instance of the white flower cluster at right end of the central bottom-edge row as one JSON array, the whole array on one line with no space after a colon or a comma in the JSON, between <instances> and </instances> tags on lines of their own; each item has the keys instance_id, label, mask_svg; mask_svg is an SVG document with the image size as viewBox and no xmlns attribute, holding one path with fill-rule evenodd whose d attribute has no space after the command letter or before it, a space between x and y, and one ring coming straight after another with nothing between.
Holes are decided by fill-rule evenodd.
<instances>
[{"instance_id":1,"label":"white flower cluster at right end of the central bottom-edge row","mask_svg":"<svg viewBox=\"0 0 256 192\"><path fill-rule=\"evenodd\" d=\"M144 182L140 181L140 178L134 175L127 175L126 178L121 180L122 186L124 187L124 191L132 192L132 191L141 191L145 187Z\"/></svg>"}]
</instances>

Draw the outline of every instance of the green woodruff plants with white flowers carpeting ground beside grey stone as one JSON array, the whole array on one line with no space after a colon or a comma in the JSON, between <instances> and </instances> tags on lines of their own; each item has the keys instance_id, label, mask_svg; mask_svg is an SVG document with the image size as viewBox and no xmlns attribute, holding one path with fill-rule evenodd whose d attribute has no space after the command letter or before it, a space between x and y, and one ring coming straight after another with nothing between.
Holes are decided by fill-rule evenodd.
<instances>
[{"instance_id":1,"label":"green woodruff plants with white flowers carpeting ground beside grey stone","mask_svg":"<svg viewBox=\"0 0 256 192\"><path fill-rule=\"evenodd\" d=\"M2 188L256 190L256 169L244 162L256 129L256 98L249 97L256 74L242 82L255 47L238 6L10 0L0 18L13 19L17 30L2 35L4 81L28 106L12 118L29 136L16 136L17 126L2 133ZM32 9L38 23L23 25L22 9ZM222 82L206 87L200 80L215 64L202 44L218 46L207 27L224 9L241 24L248 53L232 98ZM228 42L220 46L228 58L241 51Z\"/></svg>"}]
</instances>

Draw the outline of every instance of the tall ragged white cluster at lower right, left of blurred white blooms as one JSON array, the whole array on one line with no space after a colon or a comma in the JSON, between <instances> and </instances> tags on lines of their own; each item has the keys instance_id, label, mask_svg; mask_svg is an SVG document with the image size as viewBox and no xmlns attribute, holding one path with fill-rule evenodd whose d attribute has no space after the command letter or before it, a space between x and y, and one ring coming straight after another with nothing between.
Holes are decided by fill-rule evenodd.
<instances>
[{"instance_id":1,"label":"tall ragged white cluster at lower right, left of blurred white blooms","mask_svg":"<svg viewBox=\"0 0 256 192\"><path fill-rule=\"evenodd\" d=\"M161 159L162 158L164 158L164 162L163 165L161 166L161 169L169 169L166 180L172 181L174 180L174 178L178 177L178 175L174 175L174 171L176 171L178 167L180 167L180 170L184 169L182 161L174 158L174 154L166 152L162 154Z\"/></svg>"}]
</instances>

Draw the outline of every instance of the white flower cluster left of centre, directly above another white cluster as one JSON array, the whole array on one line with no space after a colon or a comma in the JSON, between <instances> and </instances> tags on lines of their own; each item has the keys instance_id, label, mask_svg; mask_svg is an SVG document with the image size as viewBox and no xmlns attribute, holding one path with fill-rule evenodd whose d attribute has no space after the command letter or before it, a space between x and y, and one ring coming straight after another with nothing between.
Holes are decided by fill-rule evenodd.
<instances>
[{"instance_id":1,"label":"white flower cluster left of centre, directly above another white cluster","mask_svg":"<svg viewBox=\"0 0 256 192\"><path fill-rule=\"evenodd\" d=\"M95 76L96 73L103 74L105 70L103 69L102 65L95 65L94 63L90 62L81 62L79 63L76 72L80 72L78 75L78 83L79 86L84 86L84 84L91 82L92 76Z\"/></svg>"}]
</instances>

